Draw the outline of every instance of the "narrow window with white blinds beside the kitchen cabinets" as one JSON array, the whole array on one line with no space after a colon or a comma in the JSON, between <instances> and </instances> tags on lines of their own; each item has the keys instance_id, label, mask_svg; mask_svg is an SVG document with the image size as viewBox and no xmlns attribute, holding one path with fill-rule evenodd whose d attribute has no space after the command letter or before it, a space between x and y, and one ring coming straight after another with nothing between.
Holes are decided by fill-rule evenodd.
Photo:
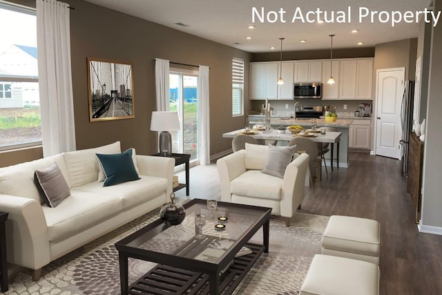
<instances>
[{"instance_id":1,"label":"narrow window with white blinds beside the kitchen cabinets","mask_svg":"<svg viewBox=\"0 0 442 295\"><path fill-rule=\"evenodd\" d=\"M244 115L244 61L232 59L232 115Z\"/></svg>"}]
</instances>

